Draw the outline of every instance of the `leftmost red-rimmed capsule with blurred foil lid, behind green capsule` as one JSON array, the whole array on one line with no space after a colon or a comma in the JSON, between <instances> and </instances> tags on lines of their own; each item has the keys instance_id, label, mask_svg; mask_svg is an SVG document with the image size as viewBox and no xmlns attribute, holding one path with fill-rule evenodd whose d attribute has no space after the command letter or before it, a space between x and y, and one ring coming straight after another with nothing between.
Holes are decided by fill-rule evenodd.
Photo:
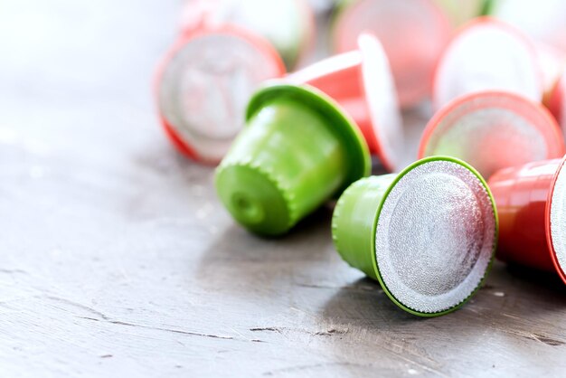
<instances>
[{"instance_id":1,"label":"leftmost red-rimmed capsule with blurred foil lid, behind green capsule","mask_svg":"<svg viewBox=\"0 0 566 378\"><path fill-rule=\"evenodd\" d=\"M259 84L285 74L263 38L233 26L185 33L156 73L156 102L165 132L185 156L220 162L241 130Z\"/></svg>"}]
</instances>

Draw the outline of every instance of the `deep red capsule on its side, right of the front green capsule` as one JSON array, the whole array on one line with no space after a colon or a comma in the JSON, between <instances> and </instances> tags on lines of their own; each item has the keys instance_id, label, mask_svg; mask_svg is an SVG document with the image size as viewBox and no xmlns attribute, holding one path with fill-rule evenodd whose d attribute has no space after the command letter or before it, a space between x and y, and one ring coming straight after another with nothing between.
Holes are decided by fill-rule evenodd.
<instances>
[{"instance_id":1,"label":"deep red capsule on its side, right of the front green capsule","mask_svg":"<svg viewBox=\"0 0 566 378\"><path fill-rule=\"evenodd\" d=\"M489 179L499 214L499 260L556 271L566 283L564 158L502 169Z\"/></svg>"}]
</instances>

